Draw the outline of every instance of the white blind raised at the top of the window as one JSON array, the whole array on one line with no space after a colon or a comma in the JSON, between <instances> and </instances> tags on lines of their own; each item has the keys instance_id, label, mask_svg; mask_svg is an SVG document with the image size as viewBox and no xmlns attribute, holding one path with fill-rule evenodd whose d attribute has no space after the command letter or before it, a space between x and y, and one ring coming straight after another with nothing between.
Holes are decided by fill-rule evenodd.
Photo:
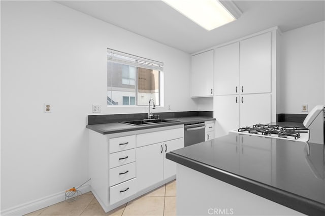
<instances>
[{"instance_id":1,"label":"white blind raised at the top of the window","mask_svg":"<svg viewBox=\"0 0 325 216\"><path fill-rule=\"evenodd\" d=\"M154 61L151 59L134 56L120 51L107 49L107 60L120 64L132 65L152 70L163 71L163 62Z\"/></svg>"}]
</instances>

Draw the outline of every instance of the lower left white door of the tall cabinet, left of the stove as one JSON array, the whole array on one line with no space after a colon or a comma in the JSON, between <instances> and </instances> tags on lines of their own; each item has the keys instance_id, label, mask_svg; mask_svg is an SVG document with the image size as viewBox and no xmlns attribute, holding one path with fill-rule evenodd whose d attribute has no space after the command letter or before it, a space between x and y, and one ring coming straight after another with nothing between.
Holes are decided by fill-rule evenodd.
<instances>
[{"instance_id":1,"label":"lower left white door of the tall cabinet, left of the stove","mask_svg":"<svg viewBox=\"0 0 325 216\"><path fill-rule=\"evenodd\" d=\"M239 95L215 96L213 100L215 138L239 127Z\"/></svg>"}]
</instances>

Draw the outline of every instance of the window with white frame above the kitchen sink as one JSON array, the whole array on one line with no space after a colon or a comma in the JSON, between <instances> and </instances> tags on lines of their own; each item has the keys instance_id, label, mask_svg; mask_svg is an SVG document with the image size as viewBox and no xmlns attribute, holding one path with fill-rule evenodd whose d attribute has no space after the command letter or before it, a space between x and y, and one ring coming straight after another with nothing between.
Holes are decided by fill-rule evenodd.
<instances>
[{"instance_id":1,"label":"window with white frame above the kitchen sink","mask_svg":"<svg viewBox=\"0 0 325 216\"><path fill-rule=\"evenodd\" d=\"M163 63L108 49L107 105L161 105Z\"/></svg>"}]
</instances>

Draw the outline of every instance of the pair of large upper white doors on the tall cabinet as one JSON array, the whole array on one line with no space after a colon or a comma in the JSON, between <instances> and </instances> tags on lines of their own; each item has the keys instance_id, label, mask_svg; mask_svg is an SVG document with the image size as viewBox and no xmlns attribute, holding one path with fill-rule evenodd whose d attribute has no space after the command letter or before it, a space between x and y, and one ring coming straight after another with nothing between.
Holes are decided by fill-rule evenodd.
<instances>
[{"instance_id":1,"label":"pair of large upper white doors on the tall cabinet","mask_svg":"<svg viewBox=\"0 0 325 216\"><path fill-rule=\"evenodd\" d=\"M215 95L271 93L271 32L214 51Z\"/></svg>"}]
</instances>

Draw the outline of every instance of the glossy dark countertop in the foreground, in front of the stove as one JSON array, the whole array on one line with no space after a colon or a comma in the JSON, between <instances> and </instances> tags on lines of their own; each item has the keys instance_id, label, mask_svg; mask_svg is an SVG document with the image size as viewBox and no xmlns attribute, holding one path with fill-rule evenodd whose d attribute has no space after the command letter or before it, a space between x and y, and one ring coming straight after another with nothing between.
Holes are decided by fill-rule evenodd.
<instances>
[{"instance_id":1,"label":"glossy dark countertop in the foreground, in front of the stove","mask_svg":"<svg viewBox=\"0 0 325 216\"><path fill-rule=\"evenodd\" d=\"M166 158L307 215L325 215L324 145L230 133Z\"/></svg>"}]
</instances>

